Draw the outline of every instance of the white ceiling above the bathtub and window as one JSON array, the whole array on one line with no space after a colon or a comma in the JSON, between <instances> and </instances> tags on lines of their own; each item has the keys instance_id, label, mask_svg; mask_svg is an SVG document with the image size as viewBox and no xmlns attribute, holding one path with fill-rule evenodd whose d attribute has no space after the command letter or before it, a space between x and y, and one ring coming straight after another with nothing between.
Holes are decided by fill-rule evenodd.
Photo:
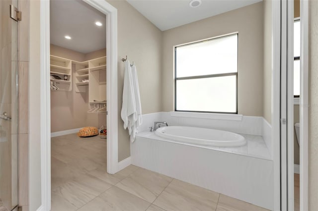
<instances>
[{"instance_id":1,"label":"white ceiling above the bathtub and window","mask_svg":"<svg viewBox=\"0 0 318 211\"><path fill-rule=\"evenodd\" d=\"M221 14L262 0L202 0L199 7L190 0L127 0L161 31Z\"/></svg>"}]
</instances>

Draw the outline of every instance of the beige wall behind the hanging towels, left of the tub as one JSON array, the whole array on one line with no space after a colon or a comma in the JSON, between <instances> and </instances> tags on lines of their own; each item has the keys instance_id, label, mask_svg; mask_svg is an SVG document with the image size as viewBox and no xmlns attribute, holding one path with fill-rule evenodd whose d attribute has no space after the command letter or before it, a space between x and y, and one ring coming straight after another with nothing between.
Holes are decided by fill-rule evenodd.
<instances>
[{"instance_id":1,"label":"beige wall behind the hanging towels, left of the tub","mask_svg":"<svg viewBox=\"0 0 318 211\"><path fill-rule=\"evenodd\" d=\"M120 117L124 62L135 61L140 86L142 113L161 111L162 32L124 0L108 0L118 12L118 161L130 156L127 130Z\"/></svg>"}]
</instances>

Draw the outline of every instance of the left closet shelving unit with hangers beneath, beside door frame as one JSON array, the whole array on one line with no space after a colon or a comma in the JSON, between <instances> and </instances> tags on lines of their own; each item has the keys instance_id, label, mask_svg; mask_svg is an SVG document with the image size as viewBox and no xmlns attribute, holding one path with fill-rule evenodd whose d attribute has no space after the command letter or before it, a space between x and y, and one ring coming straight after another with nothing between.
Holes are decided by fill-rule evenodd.
<instances>
[{"instance_id":1,"label":"left closet shelving unit with hangers beneath, beside door frame","mask_svg":"<svg viewBox=\"0 0 318 211\"><path fill-rule=\"evenodd\" d=\"M50 79L56 82L61 91L72 90L72 60L50 55L50 75L59 76L60 79ZM67 76L67 80L64 77Z\"/></svg>"}]
</instances>

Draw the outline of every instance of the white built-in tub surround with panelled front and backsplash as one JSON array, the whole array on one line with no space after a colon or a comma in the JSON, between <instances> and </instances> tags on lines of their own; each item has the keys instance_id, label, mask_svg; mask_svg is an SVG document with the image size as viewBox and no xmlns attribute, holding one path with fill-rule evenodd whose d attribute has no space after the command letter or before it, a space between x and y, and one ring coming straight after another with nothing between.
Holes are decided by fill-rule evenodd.
<instances>
[{"instance_id":1,"label":"white built-in tub surround with panelled front and backsplash","mask_svg":"<svg viewBox=\"0 0 318 211\"><path fill-rule=\"evenodd\" d=\"M166 121L169 126L150 132L148 128L154 121ZM246 144L239 147L200 146L186 139L182 143L182 139L156 135L160 130L180 125L191 126L190 130L200 127L202 130L212 128L239 133ZM131 145L132 164L273 209L271 127L262 117L159 112L143 115L139 130L141 132Z\"/></svg>"}]
</instances>

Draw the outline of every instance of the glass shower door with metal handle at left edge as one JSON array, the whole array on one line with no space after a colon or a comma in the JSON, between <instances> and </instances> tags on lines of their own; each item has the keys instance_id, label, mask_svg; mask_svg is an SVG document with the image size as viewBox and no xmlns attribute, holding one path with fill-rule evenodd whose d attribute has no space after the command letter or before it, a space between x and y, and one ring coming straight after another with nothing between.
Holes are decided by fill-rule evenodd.
<instances>
[{"instance_id":1,"label":"glass shower door with metal handle at left edge","mask_svg":"<svg viewBox=\"0 0 318 211\"><path fill-rule=\"evenodd\" d=\"M17 0L0 0L0 211L18 205L18 23L10 4Z\"/></svg>"}]
</instances>

